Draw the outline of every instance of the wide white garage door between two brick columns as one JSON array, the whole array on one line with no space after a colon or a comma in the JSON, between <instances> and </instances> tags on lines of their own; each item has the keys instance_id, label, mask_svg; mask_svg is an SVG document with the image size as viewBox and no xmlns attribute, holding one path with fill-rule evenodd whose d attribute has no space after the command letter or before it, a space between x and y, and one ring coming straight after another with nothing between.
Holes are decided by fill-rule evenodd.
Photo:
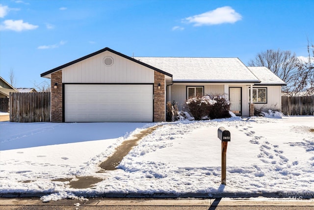
<instances>
[{"instance_id":1,"label":"wide white garage door between two brick columns","mask_svg":"<svg viewBox=\"0 0 314 210\"><path fill-rule=\"evenodd\" d=\"M152 122L153 85L64 85L66 122Z\"/></svg>"}]
</instances>

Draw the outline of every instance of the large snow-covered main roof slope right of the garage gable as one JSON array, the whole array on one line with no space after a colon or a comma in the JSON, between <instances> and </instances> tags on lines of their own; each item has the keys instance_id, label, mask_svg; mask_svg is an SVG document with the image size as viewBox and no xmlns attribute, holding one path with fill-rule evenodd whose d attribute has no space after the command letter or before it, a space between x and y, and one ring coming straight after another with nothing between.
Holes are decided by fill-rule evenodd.
<instances>
[{"instance_id":1,"label":"large snow-covered main roof slope right of the garage gable","mask_svg":"<svg viewBox=\"0 0 314 210\"><path fill-rule=\"evenodd\" d=\"M174 82L243 82L259 79L238 58L134 58L173 75Z\"/></svg>"}]
</instances>

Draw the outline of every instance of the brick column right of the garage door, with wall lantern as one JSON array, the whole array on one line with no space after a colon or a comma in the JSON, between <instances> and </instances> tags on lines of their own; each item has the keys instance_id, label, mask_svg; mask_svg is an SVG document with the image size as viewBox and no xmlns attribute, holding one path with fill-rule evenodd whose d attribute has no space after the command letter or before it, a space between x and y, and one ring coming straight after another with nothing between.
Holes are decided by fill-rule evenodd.
<instances>
[{"instance_id":1,"label":"brick column right of the garage door, with wall lantern","mask_svg":"<svg viewBox=\"0 0 314 210\"><path fill-rule=\"evenodd\" d=\"M160 83L160 89L158 89ZM162 122L166 120L165 105L165 75L154 72L154 122Z\"/></svg>"}]
</instances>

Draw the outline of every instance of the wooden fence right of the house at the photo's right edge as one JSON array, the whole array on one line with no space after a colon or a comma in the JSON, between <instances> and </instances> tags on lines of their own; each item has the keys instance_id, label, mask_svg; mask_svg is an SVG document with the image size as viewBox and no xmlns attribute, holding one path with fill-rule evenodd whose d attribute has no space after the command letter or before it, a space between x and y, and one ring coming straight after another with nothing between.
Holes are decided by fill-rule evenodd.
<instances>
[{"instance_id":1,"label":"wooden fence right of the house at the photo's right edge","mask_svg":"<svg viewBox=\"0 0 314 210\"><path fill-rule=\"evenodd\" d=\"M284 115L314 115L314 95L282 96L282 113Z\"/></svg>"}]
</instances>

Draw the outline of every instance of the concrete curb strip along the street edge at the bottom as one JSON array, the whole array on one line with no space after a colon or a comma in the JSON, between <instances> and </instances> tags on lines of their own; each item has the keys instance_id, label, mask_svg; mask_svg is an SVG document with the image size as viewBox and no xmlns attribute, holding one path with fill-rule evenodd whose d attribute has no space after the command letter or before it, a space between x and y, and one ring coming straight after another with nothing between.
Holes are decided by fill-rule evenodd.
<instances>
[{"instance_id":1,"label":"concrete curb strip along the street edge at the bottom","mask_svg":"<svg viewBox=\"0 0 314 210\"><path fill-rule=\"evenodd\" d=\"M287 200L287 199L117 199L94 198L88 201L63 199L43 203L38 198L0 198L0 206L298 206L314 207L314 200Z\"/></svg>"}]
</instances>

